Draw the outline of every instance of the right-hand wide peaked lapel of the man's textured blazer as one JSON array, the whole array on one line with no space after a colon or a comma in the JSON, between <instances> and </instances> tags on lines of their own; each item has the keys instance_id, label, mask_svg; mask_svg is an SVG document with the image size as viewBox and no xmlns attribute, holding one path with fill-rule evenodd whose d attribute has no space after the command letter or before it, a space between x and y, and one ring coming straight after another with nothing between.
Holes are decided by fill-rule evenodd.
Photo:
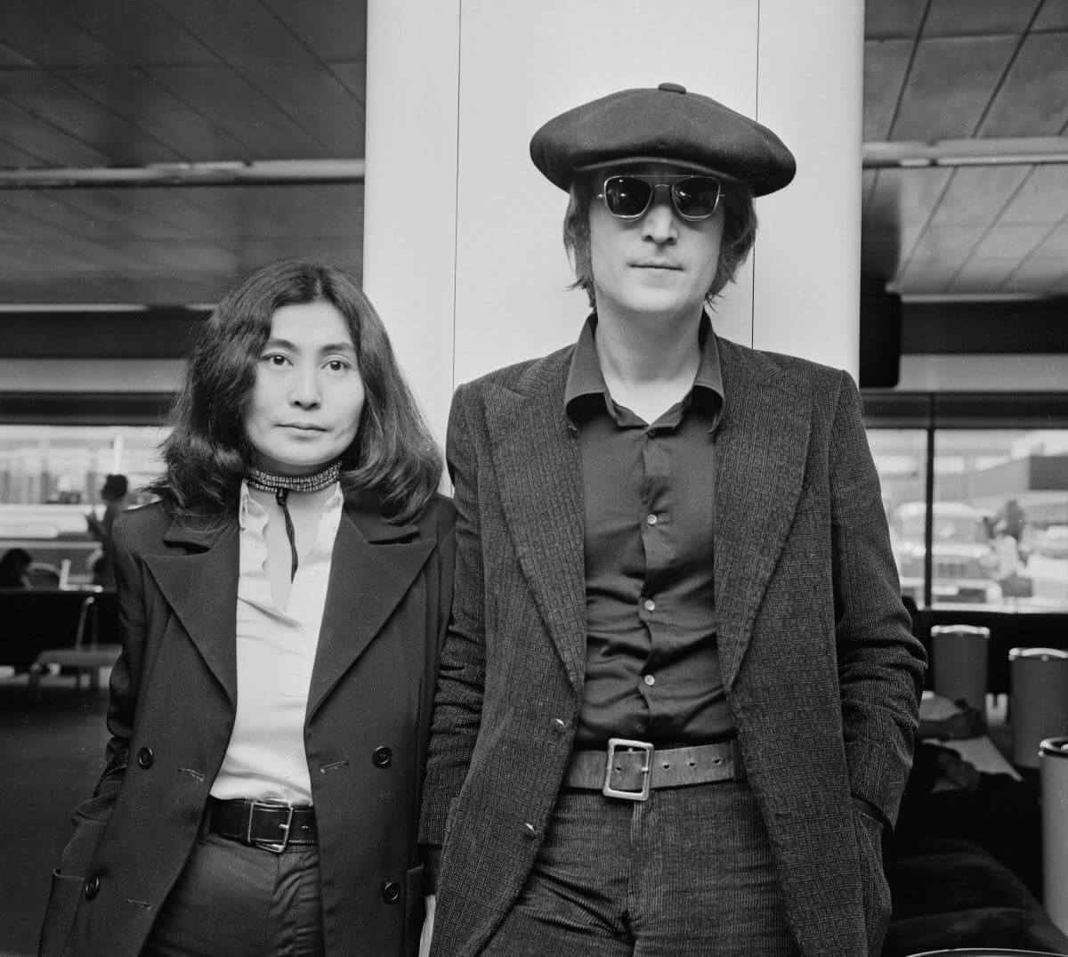
<instances>
[{"instance_id":1,"label":"right-hand wide peaked lapel of the man's textured blazer","mask_svg":"<svg viewBox=\"0 0 1068 957\"><path fill-rule=\"evenodd\" d=\"M714 569L719 652L731 687L794 521L811 399L770 360L719 340L726 396L717 433Z\"/></svg>"}]
</instances>

